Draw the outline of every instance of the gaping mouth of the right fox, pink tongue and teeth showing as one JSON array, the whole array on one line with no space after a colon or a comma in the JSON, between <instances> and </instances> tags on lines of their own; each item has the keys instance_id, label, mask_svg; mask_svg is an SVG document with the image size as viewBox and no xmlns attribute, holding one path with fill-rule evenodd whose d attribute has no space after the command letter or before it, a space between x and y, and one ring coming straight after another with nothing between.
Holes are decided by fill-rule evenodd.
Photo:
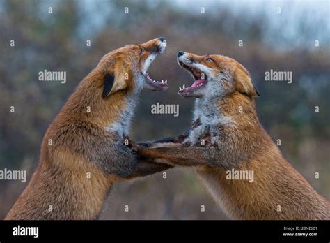
<instances>
[{"instance_id":1,"label":"gaping mouth of the right fox, pink tongue and teeth showing","mask_svg":"<svg viewBox=\"0 0 330 243\"><path fill-rule=\"evenodd\" d=\"M207 75L205 75L205 73L202 73L201 70L199 70L198 68L188 66L182 63L182 61L179 61L179 64L182 68L189 71L191 75L194 76L194 80L195 80L195 82L191 85L191 87L186 88L185 85L183 85L182 88L179 87L179 94L191 93L196 89L201 89L203 85L207 83Z\"/></svg>"}]
</instances>

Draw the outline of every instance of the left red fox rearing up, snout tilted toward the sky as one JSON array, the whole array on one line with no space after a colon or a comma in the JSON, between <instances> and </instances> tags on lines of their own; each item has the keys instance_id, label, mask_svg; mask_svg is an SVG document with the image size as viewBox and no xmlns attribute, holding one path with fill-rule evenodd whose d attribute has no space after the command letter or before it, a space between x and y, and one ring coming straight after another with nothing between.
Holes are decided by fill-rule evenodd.
<instances>
[{"instance_id":1,"label":"left red fox rearing up, snout tilted toward the sky","mask_svg":"<svg viewBox=\"0 0 330 243\"><path fill-rule=\"evenodd\" d=\"M29 185L6 219L97 219L113 183L169 168L123 145L141 89L164 91L146 71L164 38L113 50L78 85L42 141Z\"/></svg>"}]
</instances>

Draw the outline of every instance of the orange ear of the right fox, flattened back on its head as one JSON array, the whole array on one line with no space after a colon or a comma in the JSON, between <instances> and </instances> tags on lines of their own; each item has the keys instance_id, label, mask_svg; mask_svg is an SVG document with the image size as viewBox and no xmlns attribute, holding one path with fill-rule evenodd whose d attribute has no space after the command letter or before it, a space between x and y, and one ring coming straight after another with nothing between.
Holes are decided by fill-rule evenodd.
<instances>
[{"instance_id":1,"label":"orange ear of the right fox, flattened back on its head","mask_svg":"<svg viewBox=\"0 0 330 243\"><path fill-rule=\"evenodd\" d=\"M239 93L246 94L250 97L258 97L260 94L254 86L249 73L245 70L244 67L237 67L234 74L235 87Z\"/></svg>"}]
</instances>

